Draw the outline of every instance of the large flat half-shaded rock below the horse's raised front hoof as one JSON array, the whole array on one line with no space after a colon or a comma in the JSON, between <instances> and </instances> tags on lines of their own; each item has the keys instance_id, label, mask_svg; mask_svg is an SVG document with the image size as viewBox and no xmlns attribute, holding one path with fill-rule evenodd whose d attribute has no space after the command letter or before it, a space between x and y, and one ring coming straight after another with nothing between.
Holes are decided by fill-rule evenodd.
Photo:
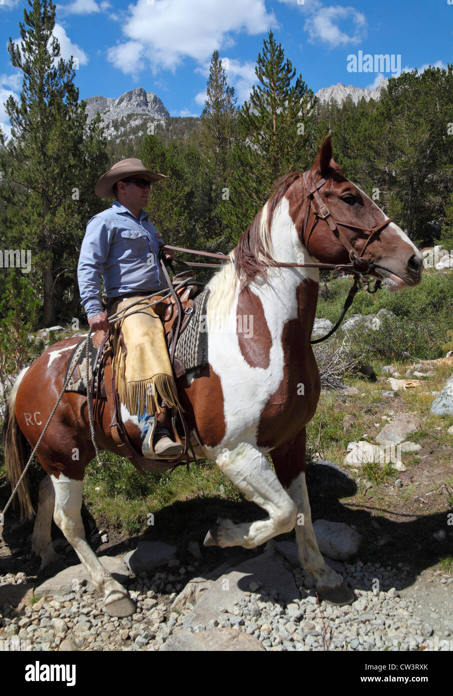
<instances>
[{"instance_id":1,"label":"large flat half-shaded rock below the horse's raised front hoof","mask_svg":"<svg viewBox=\"0 0 453 696\"><path fill-rule=\"evenodd\" d=\"M217 578L186 616L184 630L198 624L206 626L212 619L220 621L223 617L221 608L232 614L235 603L244 599L244 592L250 592L248 588L253 581L260 584L262 594L276 592L281 602L289 603L299 598L294 577L285 568L283 558L275 551L265 551Z\"/></svg>"}]
</instances>

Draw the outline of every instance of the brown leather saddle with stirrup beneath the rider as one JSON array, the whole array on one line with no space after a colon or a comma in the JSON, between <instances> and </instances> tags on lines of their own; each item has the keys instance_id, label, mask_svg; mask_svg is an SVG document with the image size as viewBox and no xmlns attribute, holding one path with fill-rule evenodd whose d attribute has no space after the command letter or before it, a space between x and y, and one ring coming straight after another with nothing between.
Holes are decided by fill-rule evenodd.
<instances>
[{"instance_id":1,"label":"brown leather saddle with stirrup beneath the rider","mask_svg":"<svg viewBox=\"0 0 453 696\"><path fill-rule=\"evenodd\" d=\"M175 347L178 338L189 326L189 322L193 315L194 299L198 294L204 290L204 284L197 283L191 274L191 271L184 271L184 273L177 274L174 276L173 283L176 285L184 281L184 285L173 293L173 296L164 298L159 295L154 296L152 301L154 311L160 317L162 324L164 324L164 331L166 334L168 352L170 354L170 360L173 365L173 372L175 378L182 377L186 373L186 367L184 363L175 357ZM141 452L138 452L132 441L127 434L125 425L121 418L120 400L118 397L118 391L116 390L116 380L113 368L113 336L110 332L104 333L104 331L97 331L93 335L93 345L97 349L95 365L93 366L93 377L90 381L90 395L93 398L95 392L95 384L97 386L97 391L100 392L100 397L104 397L107 400L110 410L110 429L117 447L121 450L122 456L127 457L129 461L135 466L135 468L145 475L145 470L150 470L150 460L143 457ZM120 334L121 340L121 334ZM104 374L104 379L96 379L97 374ZM194 447L198 443L191 442L191 436L189 427L184 418L184 414L178 408L177 413L178 424L180 425L180 432L176 425L176 418L172 418L172 430L175 441L180 443L183 447L183 452L177 459L159 459L156 456L155 464L161 461L162 464L167 464L170 461L170 466L177 466L186 462L189 466L189 461L196 460L196 454L194 452ZM157 418L153 418L151 421L153 430L157 425ZM192 456L189 457L189 448L191 449ZM154 450L152 450L154 451ZM158 461L156 461L158 460ZM152 466L151 470L166 470L168 466L157 467Z\"/></svg>"}]
</instances>

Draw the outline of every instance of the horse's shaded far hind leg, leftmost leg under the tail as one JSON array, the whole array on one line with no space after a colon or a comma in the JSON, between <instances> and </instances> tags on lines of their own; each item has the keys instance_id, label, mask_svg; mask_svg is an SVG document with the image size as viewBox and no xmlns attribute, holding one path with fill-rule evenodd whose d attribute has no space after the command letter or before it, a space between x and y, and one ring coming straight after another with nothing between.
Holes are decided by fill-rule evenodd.
<instances>
[{"instance_id":1,"label":"horse's shaded far hind leg, leftmost leg under the tail","mask_svg":"<svg viewBox=\"0 0 453 696\"><path fill-rule=\"evenodd\" d=\"M54 546L52 546L50 532L54 504L55 491L51 478L47 474L40 483L38 512L36 513L33 536L31 538L33 551L41 557L41 569L38 574L39 581L55 575L66 567L66 564L58 557Z\"/></svg>"}]
</instances>

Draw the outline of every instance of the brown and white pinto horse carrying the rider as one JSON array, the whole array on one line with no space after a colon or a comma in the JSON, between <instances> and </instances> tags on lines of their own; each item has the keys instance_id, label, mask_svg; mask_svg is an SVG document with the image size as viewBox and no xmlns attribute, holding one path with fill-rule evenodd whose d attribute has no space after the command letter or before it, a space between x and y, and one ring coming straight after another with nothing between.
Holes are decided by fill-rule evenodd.
<instances>
[{"instance_id":1,"label":"brown and white pinto horse carrying the rider","mask_svg":"<svg viewBox=\"0 0 453 696\"><path fill-rule=\"evenodd\" d=\"M209 281L207 364L177 379L187 422L205 457L267 512L267 519L247 523L218 519L205 546L254 548L295 528L301 566L315 579L319 598L337 605L351 603L355 595L326 564L313 532L305 427L321 388L310 345L319 287L316 266L349 261L390 291L421 279L418 249L344 176L333 159L329 135L310 170L279 180L230 261ZM3 426L6 471L13 484L24 469L26 447L38 442L61 391L67 357L80 340L52 345L15 381ZM109 409L94 411L97 445L120 454L110 433ZM140 451L138 419L124 406L122 418ZM32 548L41 557L42 572L61 569L51 543L53 514L102 594L106 612L124 617L134 612L134 603L88 545L81 519L84 471L94 455L86 396L64 393L37 450L47 476L40 484ZM150 460L152 467L161 471L168 463ZM19 503L22 515L30 517L25 481Z\"/></svg>"}]
</instances>

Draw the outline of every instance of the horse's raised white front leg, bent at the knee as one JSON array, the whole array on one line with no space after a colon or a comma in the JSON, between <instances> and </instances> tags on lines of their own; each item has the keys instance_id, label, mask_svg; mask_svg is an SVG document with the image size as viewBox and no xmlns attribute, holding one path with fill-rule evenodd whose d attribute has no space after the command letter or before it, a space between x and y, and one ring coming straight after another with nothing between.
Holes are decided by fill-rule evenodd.
<instances>
[{"instance_id":1,"label":"horse's raised white front leg, bent at the knee","mask_svg":"<svg viewBox=\"0 0 453 696\"><path fill-rule=\"evenodd\" d=\"M292 530L296 506L278 482L264 454L248 443L241 443L234 450L224 450L216 464L253 503L266 510L269 518L243 524L218 520L218 526L207 533L205 546L254 548Z\"/></svg>"}]
</instances>

